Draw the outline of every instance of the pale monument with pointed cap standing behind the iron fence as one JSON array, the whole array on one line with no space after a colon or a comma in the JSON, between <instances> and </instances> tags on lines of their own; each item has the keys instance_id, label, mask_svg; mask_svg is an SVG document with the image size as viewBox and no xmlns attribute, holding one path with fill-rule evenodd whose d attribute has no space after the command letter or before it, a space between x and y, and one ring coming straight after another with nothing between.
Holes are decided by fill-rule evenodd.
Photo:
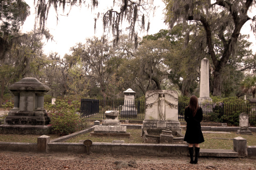
<instances>
[{"instance_id":1,"label":"pale monument with pointed cap standing behind the iron fence","mask_svg":"<svg viewBox=\"0 0 256 170\"><path fill-rule=\"evenodd\" d=\"M135 94L132 89L127 89L123 92L124 94L124 104L121 110L121 117L125 118L136 118L137 117L137 109L135 107Z\"/></svg>"}]
</instances>

